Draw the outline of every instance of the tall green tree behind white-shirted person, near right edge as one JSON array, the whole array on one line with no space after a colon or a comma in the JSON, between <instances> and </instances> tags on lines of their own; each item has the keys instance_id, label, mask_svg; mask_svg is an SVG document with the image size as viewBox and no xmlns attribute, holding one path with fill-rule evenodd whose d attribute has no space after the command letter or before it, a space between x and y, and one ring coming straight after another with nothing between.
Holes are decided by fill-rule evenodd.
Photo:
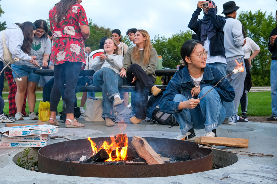
<instances>
[{"instance_id":1,"label":"tall green tree behind white-shirted person, near right edge","mask_svg":"<svg viewBox=\"0 0 277 184\"><path fill-rule=\"evenodd\" d=\"M251 11L242 11L239 13L238 20L242 23L247 36L254 40L261 51L258 56L252 60L252 82L254 86L270 86L270 65L271 53L268 51L268 40L270 32L275 28L275 17L270 13L261 10L252 13Z\"/></svg>"}]
</instances>

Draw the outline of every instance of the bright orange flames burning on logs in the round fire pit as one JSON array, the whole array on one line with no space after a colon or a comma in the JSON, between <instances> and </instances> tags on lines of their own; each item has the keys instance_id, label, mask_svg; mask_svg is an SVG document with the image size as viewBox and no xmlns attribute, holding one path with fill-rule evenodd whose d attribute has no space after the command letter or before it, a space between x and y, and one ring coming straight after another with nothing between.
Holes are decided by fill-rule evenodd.
<instances>
[{"instance_id":1,"label":"bright orange flames burning on logs in the round fire pit","mask_svg":"<svg viewBox=\"0 0 277 184\"><path fill-rule=\"evenodd\" d=\"M128 137L126 134L118 134L115 136L110 136L111 143L104 141L101 147L96 147L96 143L90 140L90 137L87 140L90 141L91 148L93 154L96 154L100 149L105 149L108 155L110 156L109 159L105 161L119 161L125 160L127 155L127 148L128 148ZM115 150L115 155L112 155L112 152Z\"/></svg>"}]
</instances>

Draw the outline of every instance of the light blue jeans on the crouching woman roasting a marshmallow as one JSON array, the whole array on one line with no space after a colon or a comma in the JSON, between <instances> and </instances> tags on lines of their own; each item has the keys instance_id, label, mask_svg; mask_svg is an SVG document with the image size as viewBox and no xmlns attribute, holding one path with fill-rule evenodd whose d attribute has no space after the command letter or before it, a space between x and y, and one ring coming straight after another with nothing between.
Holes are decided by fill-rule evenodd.
<instances>
[{"instance_id":1,"label":"light blue jeans on the crouching woman roasting a marshmallow","mask_svg":"<svg viewBox=\"0 0 277 184\"><path fill-rule=\"evenodd\" d=\"M205 86L201 89L198 97L202 97L212 87ZM188 99L182 94L176 94L173 101L183 102ZM221 103L220 96L212 89L194 109L183 109L173 114L180 125L181 133L185 135L189 129L203 129L210 132L216 129L225 119L225 109Z\"/></svg>"}]
</instances>

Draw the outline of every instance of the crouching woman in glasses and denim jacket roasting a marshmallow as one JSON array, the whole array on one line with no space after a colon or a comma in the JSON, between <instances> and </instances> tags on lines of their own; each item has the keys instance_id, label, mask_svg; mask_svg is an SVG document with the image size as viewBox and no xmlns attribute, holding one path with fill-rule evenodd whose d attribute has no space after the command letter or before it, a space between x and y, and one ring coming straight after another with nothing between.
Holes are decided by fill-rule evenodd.
<instances>
[{"instance_id":1,"label":"crouching woman in glasses and denim jacket roasting a marshmallow","mask_svg":"<svg viewBox=\"0 0 277 184\"><path fill-rule=\"evenodd\" d=\"M181 48L185 66L172 77L159 103L162 112L172 113L180 124L179 140L195 140L194 129L205 128L205 136L216 136L216 127L225 119L222 101L232 102L235 91L221 72L206 65L208 51L197 40L187 40ZM234 75L234 74L233 74ZM201 101L199 100L217 82Z\"/></svg>"}]
</instances>

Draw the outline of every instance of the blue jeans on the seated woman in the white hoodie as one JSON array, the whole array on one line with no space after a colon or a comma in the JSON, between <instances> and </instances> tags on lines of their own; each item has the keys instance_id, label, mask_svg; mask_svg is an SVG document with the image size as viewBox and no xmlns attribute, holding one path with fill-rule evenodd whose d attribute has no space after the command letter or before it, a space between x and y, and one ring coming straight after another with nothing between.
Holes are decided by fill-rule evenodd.
<instances>
[{"instance_id":1,"label":"blue jeans on the seated woman in the white hoodie","mask_svg":"<svg viewBox=\"0 0 277 184\"><path fill-rule=\"evenodd\" d=\"M109 117L115 120L113 111L114 99L112 97L116 94L119 95L118 88L122 86L122 77L110 68L102 68L94 73L93 85L102 87L102 117Z\"/></svg>"}]
</instances>

